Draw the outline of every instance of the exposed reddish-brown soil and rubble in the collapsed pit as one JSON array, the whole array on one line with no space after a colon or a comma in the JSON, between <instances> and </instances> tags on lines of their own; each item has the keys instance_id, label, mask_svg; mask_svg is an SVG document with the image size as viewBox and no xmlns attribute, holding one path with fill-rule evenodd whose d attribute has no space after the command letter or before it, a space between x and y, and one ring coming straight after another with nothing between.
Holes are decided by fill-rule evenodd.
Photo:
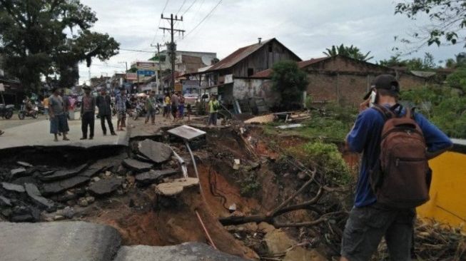
<instances>
[{"instance_id":1,"label":"exposed reddish-brown soil and rubble in the collapsed pit","mask_svg":"<svg viewBox=\"0 0 466 261\"><path fill-rule=\"evenodd\" d=\"M171 155L163 163L152 162L153 170L176 170L173 175L152 180L141 181L138 177L148 170L126 163L128 159L148 162L138 154L138 145L149 139L171 146L187 163L188 176L196 178L183 141L168 135L166 129L157 135L136 137L128 148L28 148L21 153L4 153L2 184L25 188L26 183L34 184L52 205L44 206L29 193L0 186L0 195L6 198L0 198L0 218L14 222L83 220L110 225L121 233L123 245L165 246L197 241L253 260L338 259L353 188L332 188L318 173L283 155L285 148L308 140L280 136L271 142L258 126L204 131L206 137L191 142L200 186L172 196L161 195L158 184L183 178L176 157ZM358 155L343 156L348 165L357 168ZM31 165L20 164L19 160ZM59 193L44 193L50 186L51 178L47 177L82 165L86 167L74 174L85 176L81 183ZM25 172L13 177L11 170L18 168ZM58 182L69 182L70 177ZM106 193L96 194L94 188L102 183L111 186ZM301 190L303 185L306 187ZM288 204L278 208L287 199ZM238 221L251 217L254 222Z\"/></svg>"}]
</instances>

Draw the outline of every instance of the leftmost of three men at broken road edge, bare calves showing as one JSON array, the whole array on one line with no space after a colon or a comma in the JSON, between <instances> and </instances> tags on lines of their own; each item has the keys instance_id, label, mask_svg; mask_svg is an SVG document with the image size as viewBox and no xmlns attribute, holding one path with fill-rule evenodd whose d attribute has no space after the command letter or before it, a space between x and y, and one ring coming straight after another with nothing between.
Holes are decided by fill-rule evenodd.
<instances>
[{"instance_id":1,"label":"leftmost of three men at broken road edge, bare calves showing","mask_svg":"<svg viewBox=\"0 0 466 261\"><path fill-rule=\"evenodd\" d=\"M63 140L69 132L68 121L64 111L64 102L60 96L59 88L53 89L53 94L49 97L49 117L50 117L50 133L54 134L54 141L59 141L59 133L63 133Z\"/></svg>"}]
</instances>

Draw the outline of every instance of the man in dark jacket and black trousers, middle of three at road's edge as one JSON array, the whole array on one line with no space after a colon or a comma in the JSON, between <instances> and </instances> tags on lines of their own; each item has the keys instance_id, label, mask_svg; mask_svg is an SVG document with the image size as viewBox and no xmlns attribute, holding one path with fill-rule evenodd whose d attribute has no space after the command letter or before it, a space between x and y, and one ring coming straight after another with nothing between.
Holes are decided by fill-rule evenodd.
<instances>
[{"instance_id":1,"label":"man in dark jacket and black trousers, middle of three at road's edge","mask_svg":"<svg viewBox=\"0 0 466 261\"><path fill-rule=\"evenodd\" d=\"M83 104L81 105L81 131L83 136L80 140L87 138L87 126L89 126L89 140L94 136L94 122L96 118L96 98L91 96L91 88L88 86L83 87L84 96Z\"/></svg>"}]
</instances>

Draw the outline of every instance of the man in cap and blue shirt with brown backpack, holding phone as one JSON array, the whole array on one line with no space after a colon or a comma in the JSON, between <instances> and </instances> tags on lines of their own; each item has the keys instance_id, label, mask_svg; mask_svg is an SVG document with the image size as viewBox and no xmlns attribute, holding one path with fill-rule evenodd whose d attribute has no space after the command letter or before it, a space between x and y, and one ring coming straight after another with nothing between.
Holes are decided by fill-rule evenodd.
<instances>
[{"instance_id":1,"label":"man in cap and blue shirt with brown backpack, holding phone","mask_svg":"<svg viewBox=\"0 0 466 261\"><path fill-rule=\"evenodd\" d=\"M415 207L429 199L427 160L452 142L420 113L397 103L395 77L377 76L371 87L346 138L348 149L363 158L340 260L370 260L382 237L390 260L410 260Z\"/></svg>"}]
</instances>

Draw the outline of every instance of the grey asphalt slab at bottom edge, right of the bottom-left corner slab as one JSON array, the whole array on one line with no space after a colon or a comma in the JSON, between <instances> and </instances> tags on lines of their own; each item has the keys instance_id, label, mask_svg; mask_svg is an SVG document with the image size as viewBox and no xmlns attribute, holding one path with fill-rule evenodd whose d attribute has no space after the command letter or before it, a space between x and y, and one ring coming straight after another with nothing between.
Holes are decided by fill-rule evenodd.
<instances>
[{"instance_id":1,"label":"grey asphalt slab at bottom edge, right of the bottom-left corner slab","mask_svg":"<svg viewBox=\"0 0 466 261\"><path fill-rule=\"evenodd\" d=\"M187 242L167 247L148 245L123 246L118 250L115 261L198 261L222 260L243 261L240 257L228 255L200 242Z\"/></svg>"}]
</instances>

